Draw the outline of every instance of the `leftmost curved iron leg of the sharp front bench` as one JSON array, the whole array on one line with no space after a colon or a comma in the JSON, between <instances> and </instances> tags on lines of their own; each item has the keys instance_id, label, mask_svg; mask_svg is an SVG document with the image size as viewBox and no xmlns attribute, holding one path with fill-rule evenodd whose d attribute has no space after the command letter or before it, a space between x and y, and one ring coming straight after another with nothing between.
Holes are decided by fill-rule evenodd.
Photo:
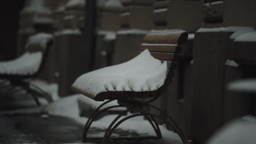
<instances>
[{"instance_id":1,"label":"leftmost curved iron leg of the sharp front bench","mask_svg":"<svg viewBox=\"0 0 256 144\"><path fill-rule=\"evenodd\" d=\"M109 109L113 109L113 108L116 108L116 107L124 107L124 106L121 106L121 105L115 105L115 106L109 106L109 107L106 107L105 109L103 110L98 110L98 113L95 113L94 115L92 115L92 117L90 118L90 121L88 119L88 121L86 122L85 126L84 126L84 131L83 131L83 142L86 141L86 135L88 134L88 131L91 127L91 124L94 122L94 119L101 115L101 113L103 113L104 111L107 111Z\"/></svg>"}]
</instances>

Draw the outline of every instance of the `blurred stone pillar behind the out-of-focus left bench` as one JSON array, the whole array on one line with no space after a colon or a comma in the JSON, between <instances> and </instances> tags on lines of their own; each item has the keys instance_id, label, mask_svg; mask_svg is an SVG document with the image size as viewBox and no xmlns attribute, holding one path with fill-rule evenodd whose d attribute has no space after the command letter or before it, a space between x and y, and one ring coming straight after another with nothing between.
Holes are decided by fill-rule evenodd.
<instances>
[{"instance_id":1,"label":"blurred stone pillar behind the out-of-focus left bench","mask_svg":"<svg viewBox=\"0 0 256 144\"><path fill-rule=\"evenodd\" d=\"M20 29L18 33L18 55L24 52L27 38L34 33L53 32L53 12L43 0L26 1L24 9L20 13ZM45 66L39 75L39 79L54 82L54 49L51 47Z\"/></svg>"}]
</instances>

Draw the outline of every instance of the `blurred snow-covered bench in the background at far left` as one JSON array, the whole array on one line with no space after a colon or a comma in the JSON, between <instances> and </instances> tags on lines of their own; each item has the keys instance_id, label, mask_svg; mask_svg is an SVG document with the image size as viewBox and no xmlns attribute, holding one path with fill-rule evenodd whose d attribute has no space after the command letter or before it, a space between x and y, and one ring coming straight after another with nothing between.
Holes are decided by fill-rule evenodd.
<instances>
[{"instance_id":1,"label":"blurred snow-covered bench in the background at far left","mask_svg":"<svg viewBox=\"0 0 256 144\"><path fill-rule=\"evenodd\" d=\"M30 83L43 68L49 48L53 45L53 36L39 33L32 35L27 40L25 52L12 61L0 62L0 79L8 80L11 88L6 94L15 92L15 87L21 87L32 94L37 105L38 97L44 97L49 102L52 98L39 87Z\"/></svg>"}]
</instances>

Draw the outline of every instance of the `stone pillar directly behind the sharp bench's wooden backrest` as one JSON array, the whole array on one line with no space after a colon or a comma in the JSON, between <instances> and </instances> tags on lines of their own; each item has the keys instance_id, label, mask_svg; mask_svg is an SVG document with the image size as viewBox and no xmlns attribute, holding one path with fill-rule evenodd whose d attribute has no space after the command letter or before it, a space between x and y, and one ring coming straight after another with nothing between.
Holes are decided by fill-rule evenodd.
<instances>
[{"instance_id":1,"label":"stone pillar directly behind the sharp bench's wooden backrest","mask_svg":"<svg viewBox=\"0 0 256 144\"><path fill-rule=\"evenodd\" d=\"M154 28L159 33L164 33L166 29L183 29L190 33L188 43L183 46L184 59L177 64L167 91L155 103L179 124L189 139L192 138L190 121L193 100L193 61L191 60L194 32L201 27L201 23L202 1L157 0L154 3Z\"/></svg>"}]
</instances>

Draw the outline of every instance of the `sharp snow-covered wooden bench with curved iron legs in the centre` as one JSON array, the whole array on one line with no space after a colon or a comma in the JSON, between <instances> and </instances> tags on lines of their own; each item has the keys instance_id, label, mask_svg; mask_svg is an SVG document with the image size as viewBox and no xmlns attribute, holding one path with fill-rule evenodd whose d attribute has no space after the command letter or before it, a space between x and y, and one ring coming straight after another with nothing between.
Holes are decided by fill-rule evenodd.
<instances>
[{"instance_id":1,"label":"sharp snow-covered wooden bench with curved iron legs in the centre","mask_svg":"<svg viewBox=\"0 0 256 144\"><path fill-rule=\"evenodd\" d=\"M157 136L133 138L160 139L162 137L161 131L155 121L157 117L170 125L179 134L183 143L188 143L182 130L171 117L157 107L150 105L152 101L156 100L165 91L166 85L172 81L174 70L176 69L175 65L179 58L181 58L180 52L187 40L188 33L184 31L155 31L149 33L144 37L141 44L142 52L137 57L128 62L91 71L78 77L72 85L74 91L96 101L109 99L109 101L100 105L88 119L84 127L83 141L102 140L102 143L105 143L110 139L118 125L132 117L144 116L152 125ZM150 98L150 100L146 102L139 101L138 99L141 98ZM102 106L113 100L118 100L119 105L101 109ZM121 106L126 106L127 110L114 119L103 138L92 139L86 136L95 117L103 111ZM150 109L159 111L160 115L165 116L166 119L160 115L150 113ZM122 116L130 111L138 113L127 116L119 121ZM115 138L111 137L111 139ZM124 137L118 137L117 139L122 138Z\"/></svg>"}]
</instances>

